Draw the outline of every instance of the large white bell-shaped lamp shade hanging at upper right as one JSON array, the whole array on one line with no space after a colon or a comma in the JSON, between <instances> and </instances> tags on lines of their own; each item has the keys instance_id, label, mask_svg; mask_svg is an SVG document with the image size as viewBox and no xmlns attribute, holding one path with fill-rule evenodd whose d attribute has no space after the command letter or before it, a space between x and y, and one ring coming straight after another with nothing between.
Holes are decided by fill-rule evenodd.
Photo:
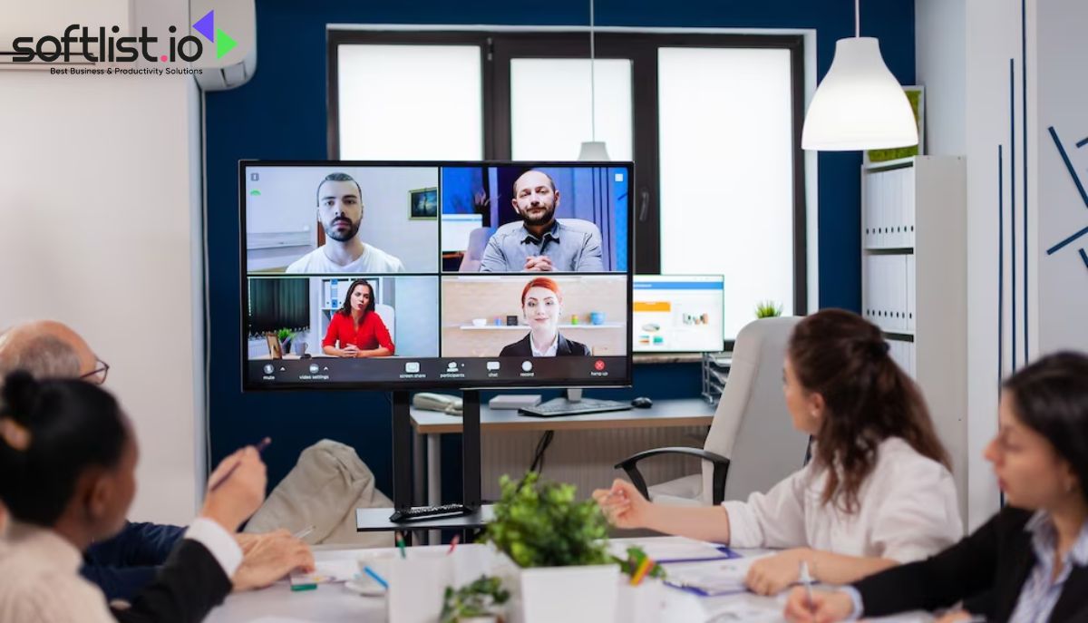
<instances>
[{"instance_id":1,"label":"large white bell-shaped lamp shade hanging at upper right","mask_svg":"<svg viewBox=\"0 0 1088 623\"><path fill-rule=\"evenodd\" d=\"M873 37L839 39L816 88L801 147L821 151L888 149L918 144L911 102Z\"/></svg>"}]
</instances>

